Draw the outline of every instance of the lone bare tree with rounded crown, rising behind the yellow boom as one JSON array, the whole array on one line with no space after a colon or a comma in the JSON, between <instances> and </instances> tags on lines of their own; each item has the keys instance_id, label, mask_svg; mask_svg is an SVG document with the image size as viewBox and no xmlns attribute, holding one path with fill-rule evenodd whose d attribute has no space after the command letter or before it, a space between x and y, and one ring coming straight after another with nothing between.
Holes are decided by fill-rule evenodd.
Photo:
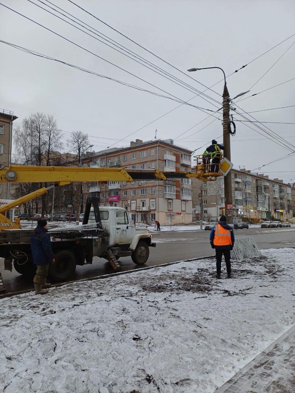
<instances>
[{"instance_id":1,"label":"lone bare tree with rounded crown, rising behind the yellow boom","mask_svg":"<svg viewBox=\"0 0 295 393\"><path fill-rule=\"evenodd\" d=\"M71 133L71 138L68 140L68 147L70 151L74 152L77 157L77 161L79 162L79 166L82 166L82 155L86 153L87 148L89 147L89 139L87 134L83 134L82 131L73 131ZM83 213L83 195L82 195L82 182L79 183L78 187L79 191L79 202L80 209L77 209L76 214L76 222L79 221L79 210L80 213Z\"/></svg>"}]
</instances>

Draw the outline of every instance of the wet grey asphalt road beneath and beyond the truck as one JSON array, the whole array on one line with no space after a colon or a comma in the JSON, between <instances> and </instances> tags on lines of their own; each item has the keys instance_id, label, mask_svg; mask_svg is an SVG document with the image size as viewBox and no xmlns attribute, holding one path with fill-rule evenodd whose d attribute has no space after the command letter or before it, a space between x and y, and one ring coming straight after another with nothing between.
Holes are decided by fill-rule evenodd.
<instances>
[{"instance_id":1,"label":"wet grey asphalt road beneath and beyond the truck","mask_svg":"<svg viewBox=\"0 0 295 393\"><path fill-rule=\"evenodd\" d=\"M192 259L213 255L209 243L209 231L184 231L184 232L159 232L153 233L153 241L156 248L150 248L149 259L144 266L156 266L162 263ZM256 228L235 230L235 235L251 235L259 248L295 247L295 228ZM141 268L134 264L130 257L120 258L121 270L134 270ZM4 270L4 260L0 259L0 271L7 292L15 292L33 288L31 280L18 274ZM93 264L77 266L71 280L95 277L113 273L109 263L105 259L94 258Z\"/></svg>"}]
</instances>

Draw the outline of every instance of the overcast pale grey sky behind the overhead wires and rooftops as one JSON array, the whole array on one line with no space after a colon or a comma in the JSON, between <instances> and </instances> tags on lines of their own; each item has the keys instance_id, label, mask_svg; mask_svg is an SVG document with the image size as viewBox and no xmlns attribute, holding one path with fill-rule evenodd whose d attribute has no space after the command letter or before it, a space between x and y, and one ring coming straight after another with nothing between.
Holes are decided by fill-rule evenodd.
<instances>
[{"instance_id":1,"label":"overcast pale grey sky behind the overhead wires and rooftops","mask_svg":"<svg viewBox=\"0 0 295 393\"><path fill-rule=\"evenodd\" d=\"M32 1L46 8L38 0ZM1 0L1 2L171 95L184 101L196 95L87 36L28 0ZM44 3L47 3L46 0ZM186 72L188 74L186 76L70 2L52 0L52 3L201 91L205 88L197 81L205 86L211 86L222 78L221 71L202 70L188 73L186 72L188 68L219 66L229 75L295 33L293 0L247 2L76 0L77 4L96 17ZM2 40L159 94L169 95L77 48L3 6L0 6L0 26ZM227 79L231 97L249 90L293 42L295 36L231 75ZM94 149L99 151L112 144L118 147L128 145L129 141L135 138L150 140L155 136L155 129L158 130L157 137L176 139L175 143L191 150L206 145L212 138L219 137L218 141L222 142L220 137L222 125L219 120L198 132L214 120L212 117L177 138L210 113L205 114L187 105L182 105L127 137L128 134L159 118L179 104L167 98L157 97L81 72L61 63L35 57L3 43L0 43L0 48L2 55L0 108L13 110L19 118L17 122L21 122L34 111L54 114L59 127L64 131L63 142L72 130L82 130L89 134L90 142L95 145ZM250 94L295 78L294 60L295 44L251 89ZM189 77L193 77L195 81ZM241 100L237 104L247 112L295 105L294 87L295 80L244 101ZM218 94L209 90L206 94L221 103L223 83L216 84L212 89ZM215 101L210 99L209 101L206 102L200 96L190 103L211 110L216 110L216 106L219 107ZM294 108L269 110L252 115L259 121L295 123ZM247 117L249 118L249 115ZM240 116L237 118L242 119ZM234 167L245 166L246 169L252 170L290 153L289 150L266 139L264 132L252 124L246 124L255 130L236 122L236 136L231 138ZM288 143L295 145L295 124L266 124L266 126L285 138ZM258 134L256 130L264 135ZM118 142L122 138L125 140ZM202 147L198 153L201 154L203 150ZM290 156L268 165L264 168L264 173L271 178L279 177L289 182L295 179L295 172L286 171L295 171L294 162L295 156ZM277 171L281 173L268 173Z\"/></svg>"}]
</instances>

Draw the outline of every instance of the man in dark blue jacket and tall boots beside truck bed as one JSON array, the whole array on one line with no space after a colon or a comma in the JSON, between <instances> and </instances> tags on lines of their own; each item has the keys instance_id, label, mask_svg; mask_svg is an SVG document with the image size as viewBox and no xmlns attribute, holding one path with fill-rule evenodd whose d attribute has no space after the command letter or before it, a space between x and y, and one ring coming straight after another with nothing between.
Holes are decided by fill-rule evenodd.
<instances>
[{"instance_id":1,"label":"man in dark blue jacket and tall boots beside truck bed","mask_svg":"<svg viewBox=\"0 0 295 393\"><path fill-rule=\"evenodd\" d=\"M37 265L36 275L33 280L35 295L46 294L51 286L51 284L46 283L49 263L51 261L55 262L46 220L41 219L37 221L34 236L31 237L30 241L33 263Z\"/></svg>"}]
</instances>

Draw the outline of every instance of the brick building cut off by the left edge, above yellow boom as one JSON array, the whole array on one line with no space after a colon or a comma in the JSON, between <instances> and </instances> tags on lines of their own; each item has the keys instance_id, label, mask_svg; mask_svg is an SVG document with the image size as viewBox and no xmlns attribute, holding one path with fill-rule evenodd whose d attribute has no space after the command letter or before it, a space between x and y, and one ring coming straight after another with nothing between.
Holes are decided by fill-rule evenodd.
<instances>
[{"instance_id":1,"label":"brick building cut off by the left edge, above yellow boom","mask_svg":"<svg viewBox=\"0 0 295 393\"><path fill-rule=\"evenodd\" d=\"M0 165L1 168L11 163L12 150L12 128L13 121L17 116L13 112L0 109ZM9 185L3 183L0 185L0 199L6 200L10 198Z\"/></svg>"}]
</instances>

